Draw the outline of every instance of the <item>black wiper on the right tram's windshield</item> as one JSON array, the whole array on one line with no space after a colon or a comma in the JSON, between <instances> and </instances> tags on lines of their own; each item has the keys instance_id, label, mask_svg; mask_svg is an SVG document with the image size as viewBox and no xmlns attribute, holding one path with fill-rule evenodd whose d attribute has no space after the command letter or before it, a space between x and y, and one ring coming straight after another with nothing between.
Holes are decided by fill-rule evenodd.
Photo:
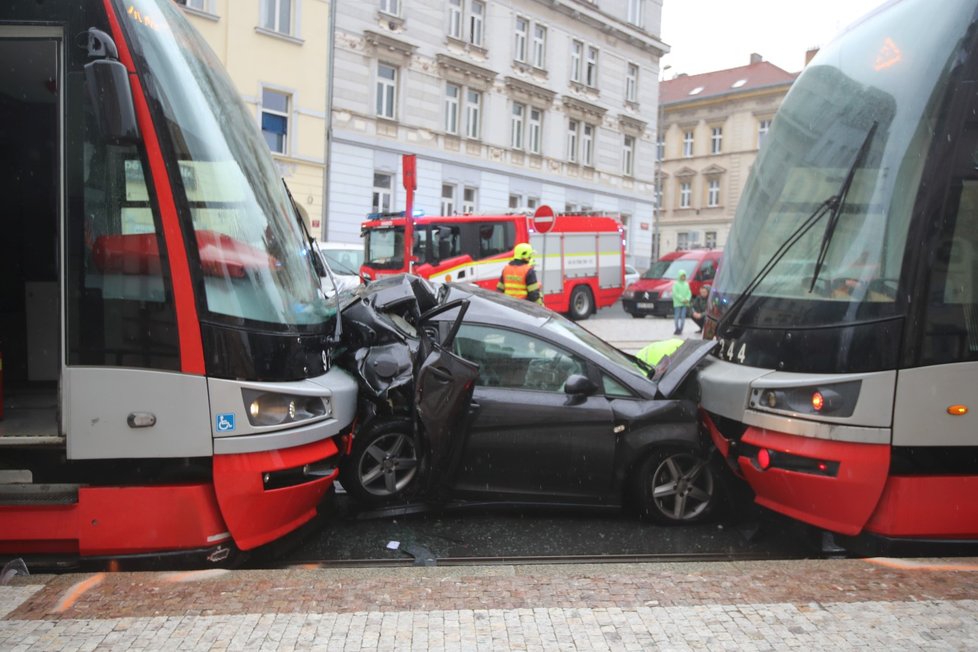
<instances>
[{"instance_id":1,"label":"black wiper on the right tram's windshield","mask_svg":"<svg viewBox=\"0 0 978 652\"><path fill-rule=\"evenodd\" d=\"M866 156L866 152L869 151L869 143L873 139L873 134L876 133L876 127L879 123L874 121L869 131L866 132L866 137L863 138L862 145L859 147L859 151L856 152L856 158L853 159L852 165L849 166L849 170L846 173L846 178L842 182L842 186L839 188L839 192L832 195L818 207L812 211L812 214L806 217L802 223L795 229L791 235L781 244L780 247L771 255L768 261L761 267L760 271L751 279L744 291L740 293L734 302L730 305L730 308L726 313L720 318L717 323L717 334L720 337L726 337L730 327L734 325L734 321L740 311L743 309L744 305L747 303L747 299L754 294L758 286L767 278L767 275L771 273L771 270L781 262L788 250L791 249L795 243L797 243L801 238L808 233L815 224L818 223L826 214L830 214L829 222L825 227L825 233L822 235L822 245L819 249L818 260L815 265L815 270L812 274L812 285L808 289L809 292L814 290L815 281L818 279L818 274L821 271L822 265L825 262L825 256L828 253L829 244L832 241L832 236L835 233L835 226L839 221L839 215L842 213L842 206L845 203L846 195L849 193L849 188L852 186L853 177L856 175L856 170L859 168L859 164Z\"/></svg>"}]
</instances>

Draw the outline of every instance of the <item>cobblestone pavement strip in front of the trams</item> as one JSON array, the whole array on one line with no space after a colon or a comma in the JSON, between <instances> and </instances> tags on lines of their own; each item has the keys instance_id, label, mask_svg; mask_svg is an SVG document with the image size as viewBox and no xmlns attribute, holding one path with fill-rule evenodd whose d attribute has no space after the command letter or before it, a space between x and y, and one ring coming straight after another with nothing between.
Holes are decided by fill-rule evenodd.
<instances>
[{"instance_id":1,"label":"cobblestone pavement strip in front of the trams","mask_svg":"<svg viewBox=\"0 0 978 652\"><path fill-rule=\"evenodd\" d=\"M978 649L978 559L17 577L0 650Z\"/></svg>"}]
</instances>

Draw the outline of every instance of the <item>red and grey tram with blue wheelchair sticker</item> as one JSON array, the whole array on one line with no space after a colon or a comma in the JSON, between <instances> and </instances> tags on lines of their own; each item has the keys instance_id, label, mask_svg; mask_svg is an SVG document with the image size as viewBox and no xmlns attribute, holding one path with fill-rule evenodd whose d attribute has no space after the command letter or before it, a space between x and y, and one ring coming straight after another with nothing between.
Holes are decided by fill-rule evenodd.
<instances>
[{"instance_id":1,"label":"red and grey tram with blue wheelchair sticker","mask_svg":"<svg viewBox=\"0 0 978 652\"><path fill-rule=\"evenodd\" d=\"M252 114L171 0L0 3L0 555L273 542L356 384Z\"/></svg>"}]
</instances>

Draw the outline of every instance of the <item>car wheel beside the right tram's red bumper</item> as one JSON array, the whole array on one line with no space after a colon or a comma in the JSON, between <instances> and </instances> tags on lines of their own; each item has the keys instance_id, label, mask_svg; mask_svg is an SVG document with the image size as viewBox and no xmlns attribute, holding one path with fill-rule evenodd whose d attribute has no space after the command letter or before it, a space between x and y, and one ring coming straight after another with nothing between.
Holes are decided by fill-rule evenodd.
<instances>
[{"instance_id":1,"label":"car wheel beside the right tram's red bumper","mask_svg":"<svg viewBox=\"0 0 978 652\"><path fill-rule=\"evenodd\" d=\"M692 450L656 450L633 478L642 516L658 523L698 523L713 511L717 482L706 457Z\"/></svg>"}]
</instances>

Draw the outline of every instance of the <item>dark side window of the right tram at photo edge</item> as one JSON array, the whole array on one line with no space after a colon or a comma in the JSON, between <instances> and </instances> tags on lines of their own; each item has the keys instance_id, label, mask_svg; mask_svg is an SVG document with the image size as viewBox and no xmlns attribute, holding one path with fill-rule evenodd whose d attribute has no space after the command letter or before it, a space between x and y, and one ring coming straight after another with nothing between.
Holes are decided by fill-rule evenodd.
<instances>
[{"instance_id":1,"label":"dark side window of the right tram at photo edge","mask_svg":"<svg viewBox=\"0 0 978 652\"><path fill-rule=\"evenodd\" d=\"M959 180L950 196L929 266L926 364L978 360L978 180Z\"/></svg>"}]
</instances>

